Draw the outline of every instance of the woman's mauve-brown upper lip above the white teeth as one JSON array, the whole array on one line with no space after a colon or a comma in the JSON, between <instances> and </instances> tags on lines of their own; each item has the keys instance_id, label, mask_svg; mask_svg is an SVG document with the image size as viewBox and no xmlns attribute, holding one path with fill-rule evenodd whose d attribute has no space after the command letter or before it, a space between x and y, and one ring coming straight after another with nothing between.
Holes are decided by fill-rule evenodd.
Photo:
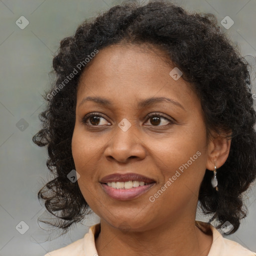
<instances>
[{"instance_id":1,"label":"woman's mauve-brown upper lip above the white teeth","mask_svg":"<svg viewBox=\"0 0 256 256\"><path fill-rule=\"evenodd\" d=\"M100 179L100 183L107 183L107 182L125 182L130 180L138 180L144 181L145 183L152 183L155 182L154 179L146 177L144 175L140 175L137 173L112 173L109 175L104 176Z\"/></svg>"}]
</instances>

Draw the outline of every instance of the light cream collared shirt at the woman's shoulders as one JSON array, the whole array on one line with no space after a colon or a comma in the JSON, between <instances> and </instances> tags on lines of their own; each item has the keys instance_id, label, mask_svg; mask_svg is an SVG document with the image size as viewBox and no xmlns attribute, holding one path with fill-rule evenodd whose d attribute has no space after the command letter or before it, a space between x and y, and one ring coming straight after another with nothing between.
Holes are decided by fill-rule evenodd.
<instances>
[{"instance_id":1,"label":"light cream collared shirt at the woman's shoulders","mask_svg":"<svg viewBox=\"0 0 256 256\"><path fill-rule=\"evenodd\" d=\"M212 244L208 256L256 256L239 243L224 238L222 234L212 225L195 220L195 225L204 233L212 233ZM100 223L89 228L83 238L69 245L48 252L44 256L97 256L95 238L100 232Z\"/></svg>"}]
</instances>

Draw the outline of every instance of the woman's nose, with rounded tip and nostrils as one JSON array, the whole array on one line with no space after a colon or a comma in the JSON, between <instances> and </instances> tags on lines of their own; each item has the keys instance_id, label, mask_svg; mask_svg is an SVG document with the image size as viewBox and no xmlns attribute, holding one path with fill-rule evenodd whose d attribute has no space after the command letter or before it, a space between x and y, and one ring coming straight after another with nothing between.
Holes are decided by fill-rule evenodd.
<instances>
[{"instance_id":1,"label":"woman's nose, with rounded tip and nostrils","mask_svg":"<svg viewBox=\"0 0 256 256\"><path fill-rule=\"evenodd\" d=\"M146 143L142 141L135 124L132 124L127 130L116 125L113 132L114 135L104 151L108 160L115 159L118 162L126 163L132 158L137 160L145 158Z\"/></svg>"}]
</instances>

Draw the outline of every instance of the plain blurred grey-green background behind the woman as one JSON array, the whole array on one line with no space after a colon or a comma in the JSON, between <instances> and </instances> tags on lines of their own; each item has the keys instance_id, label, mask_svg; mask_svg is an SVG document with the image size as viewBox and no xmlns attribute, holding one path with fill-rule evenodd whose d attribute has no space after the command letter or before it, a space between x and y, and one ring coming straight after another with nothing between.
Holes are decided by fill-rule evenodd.
<instances>
[{"instance_id":1,"label":"plain blurred grey-green background behind the woman","mask_svg":"<svg viewBox=\"0 0 256 256\"><path fill-rule=\"evenodd\" d=\"M40 93L49 87L52 53L59 41L73 34L83 19L120 2L0 0L0 256L44 255L81 238L88 226L98 221L98 217L92 215L63 237L45 241L59 233L51 230L48 237L47 230L43 231L37 224L37 217L46 214L37 200L37 191L49 176L46 150L33 144L31 138L39 129L37 116L44 107ZM255 65L256 0L176 2L188 10L215 14L218 24L240 47L241 54ZM29 21L24 29L15 23L22 15ZM220 23L226 15L234 21L229 29ZM255 66L253 69L255 71ZM256 93L255 80L253 92ZM255 186L245 197L248 216L238 231L227 238L256 251ZM199 211L197 219L204 220ZM29 226L24 234L17 231L25 228L24 223L20 226L20 221ZM19 229L15 228L17 224Z\"/></svg>"}]
</instances>

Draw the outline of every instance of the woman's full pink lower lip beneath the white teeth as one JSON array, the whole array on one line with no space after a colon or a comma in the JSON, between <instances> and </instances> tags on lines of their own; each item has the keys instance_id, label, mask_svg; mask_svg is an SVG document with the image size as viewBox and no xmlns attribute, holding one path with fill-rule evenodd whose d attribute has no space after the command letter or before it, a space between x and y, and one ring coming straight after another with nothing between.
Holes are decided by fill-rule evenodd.
<instances>
[{"instance_id":1,"label":"woman's full pink lower lip beneath the white teeth","mask_svg":"<svg viewBox=\"0 0 256 256\"><path fill-rule=\"evenodd\" d=\"M143 186L132 187L129 189L125 188L113 188L105 183L101 183L104 191L113 199L116 200L129 200L140 196L149 190L155 183L150 183Z\"/></svg>"}]
</instances>

